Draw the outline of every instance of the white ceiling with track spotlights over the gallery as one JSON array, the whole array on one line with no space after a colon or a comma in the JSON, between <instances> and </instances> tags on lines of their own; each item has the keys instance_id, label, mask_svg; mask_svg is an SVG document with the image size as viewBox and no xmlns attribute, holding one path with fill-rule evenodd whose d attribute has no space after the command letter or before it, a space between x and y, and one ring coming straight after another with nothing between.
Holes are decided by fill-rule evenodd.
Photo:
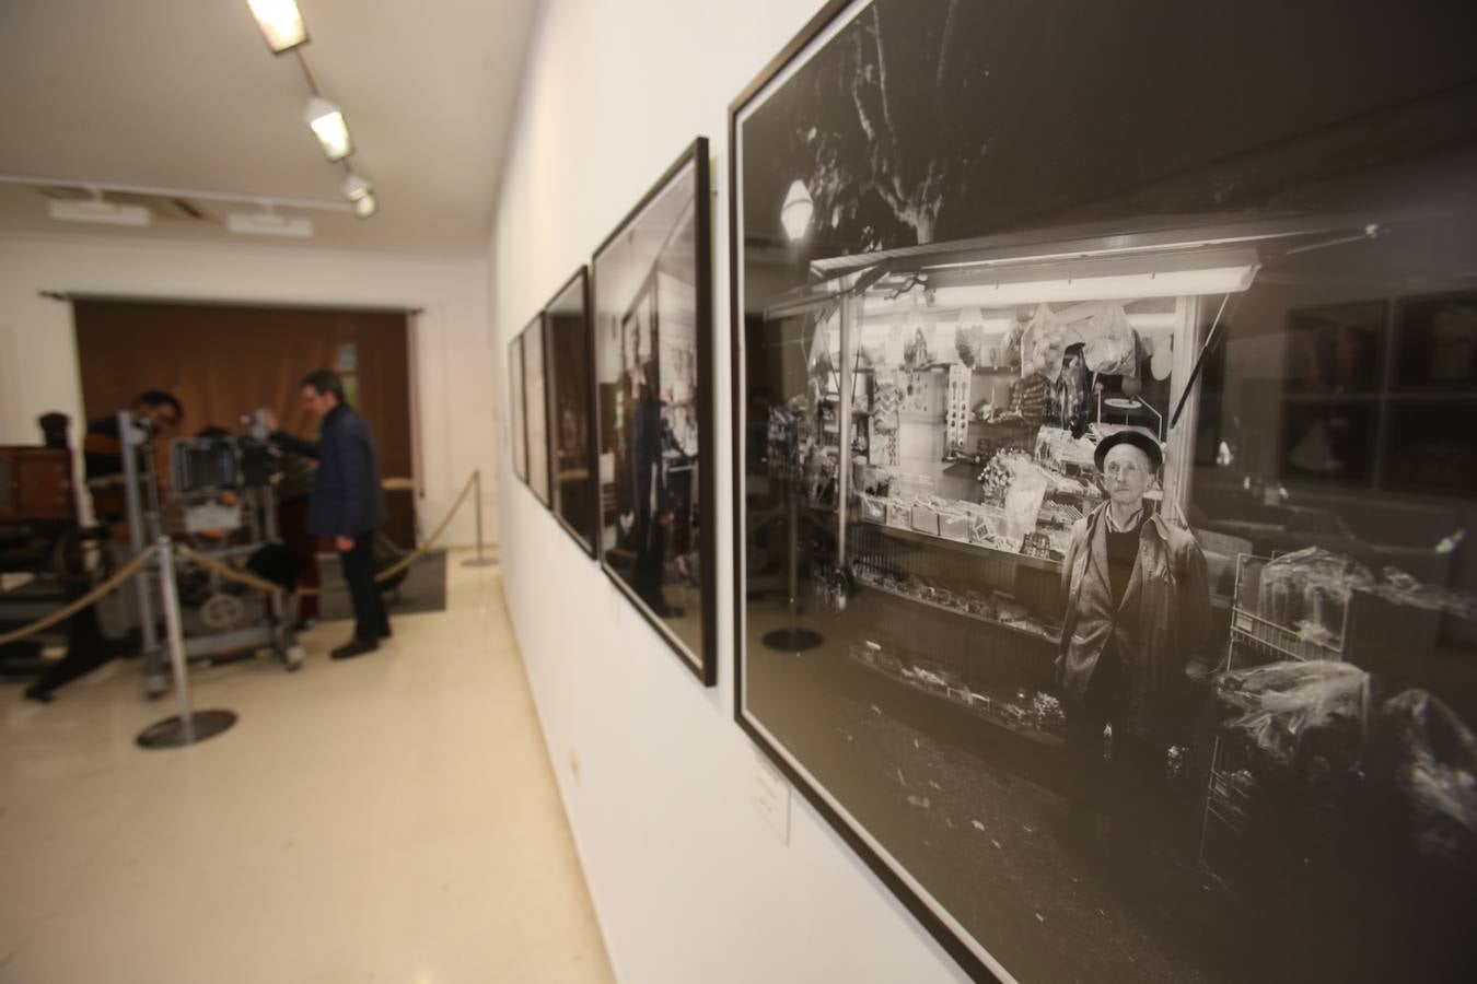
<instances>
[{"instance_id":1,"label":"white ceiling with track spotlights over the gallery","mask_svg":"<svg viewBox=\"0 0 1477 984\"><path fill-rule=\"evenodd\" d=\"M380 212L295 211L309 240L227 233L244 204L152 202L151 229L59 223L0 183L0 230L307 242L482 255L538 0L298 0L303 49L354 140ZM0 0L0 174L343 201L344 171L303 119L294 55L273 56L245 0Z\"/></svg>"}]
</instances>

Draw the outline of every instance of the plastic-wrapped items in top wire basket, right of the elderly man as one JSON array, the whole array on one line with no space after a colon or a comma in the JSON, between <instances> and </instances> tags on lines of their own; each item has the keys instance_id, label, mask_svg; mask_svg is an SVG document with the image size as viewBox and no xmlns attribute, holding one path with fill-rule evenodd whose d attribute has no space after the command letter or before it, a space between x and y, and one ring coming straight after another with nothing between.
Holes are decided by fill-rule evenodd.
<instances>
[{"instance_id":1,"label":"plastic-wrapped items in top wire basket, right of the elderly man","mask_svg":"<svg viewBox=\"0 0 1477 984\"><path fill-rule=\"evenodd\" d=\"M1338 648L1344 612L1356 587L1375 583L1369 568L1322 547L1307 547L1261 568L1257 608L1263 618Z\"/></svg>"}]
</instances>

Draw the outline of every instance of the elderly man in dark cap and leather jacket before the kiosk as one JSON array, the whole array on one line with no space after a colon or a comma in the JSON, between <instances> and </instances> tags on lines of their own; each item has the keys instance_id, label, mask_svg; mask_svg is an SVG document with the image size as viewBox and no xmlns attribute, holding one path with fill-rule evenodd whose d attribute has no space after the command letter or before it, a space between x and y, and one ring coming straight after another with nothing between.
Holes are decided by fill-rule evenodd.
<instances>
[{"instance_id":1,"label":"elderly man in dark cap and leather jacket before the kiosk","mask_svg":"<svg viewBox=\"0 0 1477 984\"><path fill-rule=\"evenodd\" d=\"M1094 462L1108 502L1072 528L1058 656L1068 832L1078 842L1093 839L1109 794L1125 834L1148 835L1164 819L1152 813L1190 699L1186 668L1210 633L1205 555L1145 499L1164 465L1159 443L1118 431L1097 444Z\"/></svg>"}]
</instances>

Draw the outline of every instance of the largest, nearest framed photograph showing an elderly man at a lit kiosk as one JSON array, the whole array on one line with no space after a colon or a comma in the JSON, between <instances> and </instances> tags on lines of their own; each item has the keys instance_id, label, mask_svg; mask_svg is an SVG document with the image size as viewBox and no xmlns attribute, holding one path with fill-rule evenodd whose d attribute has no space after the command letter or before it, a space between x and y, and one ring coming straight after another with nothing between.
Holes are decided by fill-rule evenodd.
<instances>
[{"instance_id":1,"label":"largest, nearest framed photograph showing an elderly man at a lit kiosk","mask_svg":"<svg viewBox=\"0 0 1477 984\"><path fill-rule=\"evenodd\" d=\"M734 713L975 980L1477 972L1473 12L1329 30L837 1L731 106Z\"/></svg>"}]
</instances>

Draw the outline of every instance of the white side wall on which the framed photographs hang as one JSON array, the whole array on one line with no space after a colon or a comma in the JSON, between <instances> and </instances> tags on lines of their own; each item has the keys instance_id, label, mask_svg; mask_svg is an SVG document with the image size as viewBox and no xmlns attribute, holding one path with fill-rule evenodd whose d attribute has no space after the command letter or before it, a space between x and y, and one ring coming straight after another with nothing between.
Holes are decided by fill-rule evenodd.
<instances>
[{"instance_id":1,"label":"white side wall on which the framed photographs hang","mask_svg":"<svg viewBox=\"0 0 1477 984\"><path fill-rule=\"evenodd\" d=\"M967 980L799 792L787 839L761 816L755 751L733 720L727 106L818 6L546 0L501 189L489 297L505 375L507 342L696 136L716 164L721 440L703 448L719 488L716 687L697 683L499 457L507 600L629 984Z\"/></svg>"}]
</instances>

